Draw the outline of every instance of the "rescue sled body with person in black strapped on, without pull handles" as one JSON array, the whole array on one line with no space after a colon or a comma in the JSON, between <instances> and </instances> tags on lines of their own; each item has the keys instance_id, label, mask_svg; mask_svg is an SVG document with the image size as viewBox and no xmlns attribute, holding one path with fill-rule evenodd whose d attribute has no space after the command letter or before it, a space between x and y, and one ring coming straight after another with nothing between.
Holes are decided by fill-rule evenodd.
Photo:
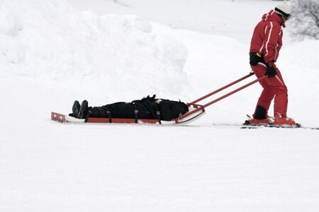
<instances>
[{"instance_id":1,"label":"rescue sled body with person in black strapped on, without pull handles","mask_svg":"<svg viewBox=\"0 0 319 212\"><path fill-rule=\"evenodd\" d=\"M101 107L88 107L84 100L74 101L72 114L52 112L51 119L62 123L115 123L115 124L187 124L198 119L205 110L194 110L201 105L187 105L181 101L147 96L132 102L115 102ZM183 117L184 114L191 115Z\"/></svg>"}]
</instances>

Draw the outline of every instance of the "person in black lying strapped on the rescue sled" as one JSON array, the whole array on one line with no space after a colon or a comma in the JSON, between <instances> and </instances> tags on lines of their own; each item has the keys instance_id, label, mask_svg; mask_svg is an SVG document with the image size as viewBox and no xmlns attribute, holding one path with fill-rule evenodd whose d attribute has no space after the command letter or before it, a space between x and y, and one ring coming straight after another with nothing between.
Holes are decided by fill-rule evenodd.
<instances>
[{"instance_id":1,"label":"person in black lying strapped on the rescue sled","mask_svg":"<svg viewBox=\"0 0 319 212\"><path fill-rule=\"evenodd\" d=\"M82 104L75 100L71 117L87 119L88 117L117 119L158 119L171 121L189 112L189 107L179 101L155 98L155 95L132 102L116 102L102 107L89 107L84 100Z\"/></svg>"}]
</instances>

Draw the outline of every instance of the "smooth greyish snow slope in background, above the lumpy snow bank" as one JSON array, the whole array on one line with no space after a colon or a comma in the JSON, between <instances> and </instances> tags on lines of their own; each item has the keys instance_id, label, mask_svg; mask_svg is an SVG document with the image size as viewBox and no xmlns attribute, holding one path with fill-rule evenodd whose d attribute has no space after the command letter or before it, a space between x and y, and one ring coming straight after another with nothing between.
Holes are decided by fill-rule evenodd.
<instances>
[{"instance_id":1,"label":"smooth greyish snow slope in background, above the lumpy snow bank","mask_svg":"<svg viewBox=\"0 0 319 212\"><path fill-rule=\"evenodd\" d=\"M248 44L254 23L274 7L272 0L67 0L100 15L135 14L172 28L233 37Z\"/></svg>"}]
</instances>

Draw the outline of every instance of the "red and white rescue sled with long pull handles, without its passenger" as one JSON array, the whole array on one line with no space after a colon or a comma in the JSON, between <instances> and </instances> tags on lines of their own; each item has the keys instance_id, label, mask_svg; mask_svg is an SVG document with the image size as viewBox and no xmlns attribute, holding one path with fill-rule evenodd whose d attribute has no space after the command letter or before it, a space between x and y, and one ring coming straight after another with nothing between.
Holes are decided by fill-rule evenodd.
<instances>
[{"instance_id":1,"label":"red and white rescue sled with long pull handles, without its passenger","mask_svg":"<svg viewBox=\"0 0 319 212\"><path fill-rule=\"evenodd\" d=\"M88 117L87 119L76 119L74 117L69 117L65 114L60 114L57 112L51 112L51 119L57 122L61 123L116 123L116 124L188 124L190 122L194 122L196 119L201 117L203 114L205 114L205 108L213 105L214 103L223 100L224 98L227 98L230 95L233 95L234 93L237 93L238 91L247 88L248 86L251 86L254 83L257 83L259 81L262 81L267 76L262 76L261 78L257 78L254 81L251 81L250 83L245 84L244 86L241 86L240 88L237 88L230 93L227 93L220 98L216 98L215 100L212 100L211 102L206 103L205 105L198 105L197 102L200 102L201 100L205 100L208 97L211 97L212 95L215 95L216 93L219 93L222 90L225 90L226 88L229 88L230 86L235 85L236 83L239 83L240 81L245 80L246 78L249 78L250 76L254 75L253 72L250 72L246 76L243 76L242 78L237 79L236 81L233 81L232 83L229 83L226 86L223 86L222 88L219 88L217 90L214 90L211 93L208 93L207 95L204 95L201 98L198 98L197 100L194 100L193 102L187 103L189 106L189 112L186 112L185 114L180 115L177 119L172 119L171 121L160 121L158 119L115 119L115 118L93 118Z\"/></svg>"}]
</instances>

